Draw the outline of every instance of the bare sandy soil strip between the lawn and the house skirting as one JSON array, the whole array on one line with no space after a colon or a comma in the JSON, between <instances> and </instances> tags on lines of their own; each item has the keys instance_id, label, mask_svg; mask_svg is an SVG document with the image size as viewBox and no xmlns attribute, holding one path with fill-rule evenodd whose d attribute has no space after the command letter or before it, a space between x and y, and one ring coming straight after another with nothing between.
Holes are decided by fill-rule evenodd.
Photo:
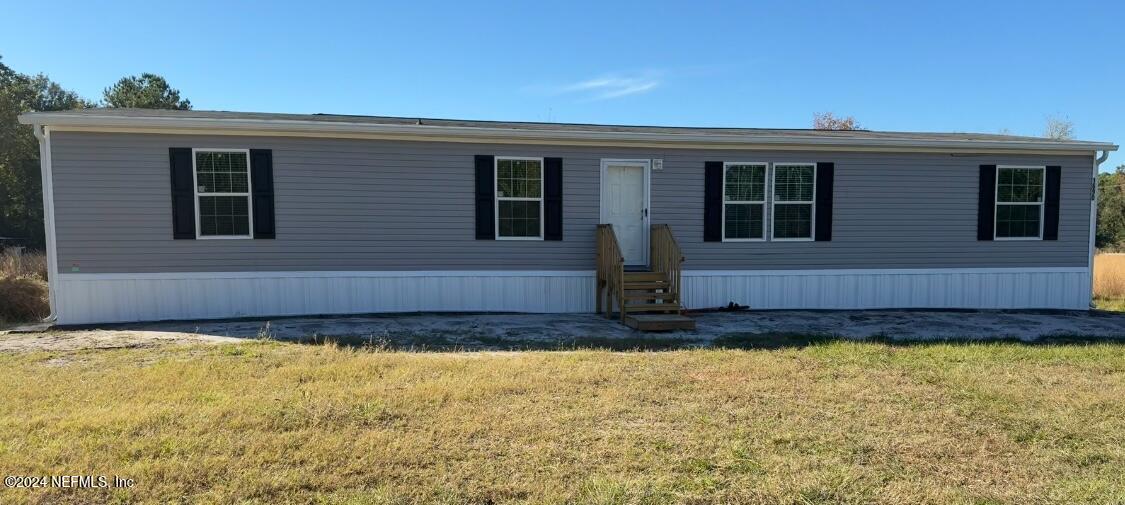
<instances>
[{"instance_id":1,"label":"bare sandy soil strip between the lawn and the house skirting","mask_svg":"<svg viewBox=\"0 0 1125 505\"><path fill-rule=\"evenodd\" d=\"M694 332L640 333L592 314L411 314L106 325L0 332L0 352L232 343L248 339L418 350L708 346L730 339L817 335L890 340L1098 337L1125 340L1125 314L1102 312L776 310L698 314ZM32 328L34 330L34 328Z\"/></svg>"}]
</instances>

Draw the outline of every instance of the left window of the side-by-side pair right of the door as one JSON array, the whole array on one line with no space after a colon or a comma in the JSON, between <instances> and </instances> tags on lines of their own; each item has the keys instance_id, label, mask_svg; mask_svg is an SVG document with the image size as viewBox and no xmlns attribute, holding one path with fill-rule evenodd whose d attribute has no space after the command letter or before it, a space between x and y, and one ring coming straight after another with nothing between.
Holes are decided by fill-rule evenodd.
<instances>
[{"instance_id":1,"label":"left window of the side-by-side pair right of the door","mask_svg":"<svg viewBox=\"0 0 1125 505\"><path fill-rule=\"evenodd\" d=\"M766 238L767 163L722 164L722 240L750 242Z\"/></svg>"}]
</instances>

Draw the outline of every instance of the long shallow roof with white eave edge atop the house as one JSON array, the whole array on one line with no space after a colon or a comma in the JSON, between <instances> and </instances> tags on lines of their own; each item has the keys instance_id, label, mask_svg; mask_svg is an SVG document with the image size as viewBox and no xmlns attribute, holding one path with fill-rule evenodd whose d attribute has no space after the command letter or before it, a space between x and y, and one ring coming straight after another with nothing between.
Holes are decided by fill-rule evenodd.
<instances>
[{"instance_id":1,"label":"long shallow roof with white eave edge atop the house","mask_svg":"<svg viewBox=\"0 0 1125 505\"><path fill-rule=\"evenodd\" d=\"M402 125L370 124L349 121L314 121L299 119L256 119L256 118L202 118L202 117L156 117L156 116L99 116L91 114L25 112L19 115L19 123L25 125L46 125L55 127L74 127L87 130L105 128L108 130L122 128L161 130L189 130L197 133L216 133L253 130L263 134L370 134L399 135L418 137L420 139L436 139L456 142L457 138L540 141L593 141L593 142L644 142L662 144L696 144L696 145L762 145L762 146L819 146L850 148L933 148L933 150L1015 150L1015 151L1055 151L1055 152L1091 152L1117 151L1117 145L1107 142L1087 141L1019 141L1019 139L919 139L919 138L861 138L861 137L809 137L796 135L759 135L747 137L736 134L691 134L668 132L582 132L565 129L520 129L485 126L447 126L447 125Z\"/></svg>"}]
</instances>

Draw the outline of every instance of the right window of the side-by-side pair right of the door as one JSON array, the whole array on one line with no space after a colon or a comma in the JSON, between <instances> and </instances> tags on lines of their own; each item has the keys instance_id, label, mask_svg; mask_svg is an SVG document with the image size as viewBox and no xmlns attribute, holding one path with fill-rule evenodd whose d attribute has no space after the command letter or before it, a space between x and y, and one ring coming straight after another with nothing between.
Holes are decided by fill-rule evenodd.
<instances>
[{"instance_id":1,"label":"right window of the side-by-side pair right of the door","mask_svg":"<svg viewBox=\"0 0 1125 505\"><path fill-rule=\"evenodd\" d=\"M816 163L774 163L773 226L775 241L811 241L816 226Z\"/></svg>"}]
</instances>

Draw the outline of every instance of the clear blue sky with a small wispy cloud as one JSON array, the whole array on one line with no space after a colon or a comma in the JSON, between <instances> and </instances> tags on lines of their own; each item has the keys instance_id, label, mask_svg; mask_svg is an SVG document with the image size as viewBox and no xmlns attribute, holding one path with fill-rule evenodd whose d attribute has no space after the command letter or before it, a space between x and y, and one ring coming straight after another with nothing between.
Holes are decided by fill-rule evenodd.
<instances>
[{"instance_id":1,"label":"clear blue sky with a small wispy cloud","mask_svg":"<svg viewBox=\"0 0 1125 505\"><path fill-rule=\"evenodd\" d=\"M0 55L197 109L1125 141L1125 2L6 2ZM14 22L15 21L15 22ZM1104 169L1125 163L1115 153Z\"/></svg>"}]
</instances>

